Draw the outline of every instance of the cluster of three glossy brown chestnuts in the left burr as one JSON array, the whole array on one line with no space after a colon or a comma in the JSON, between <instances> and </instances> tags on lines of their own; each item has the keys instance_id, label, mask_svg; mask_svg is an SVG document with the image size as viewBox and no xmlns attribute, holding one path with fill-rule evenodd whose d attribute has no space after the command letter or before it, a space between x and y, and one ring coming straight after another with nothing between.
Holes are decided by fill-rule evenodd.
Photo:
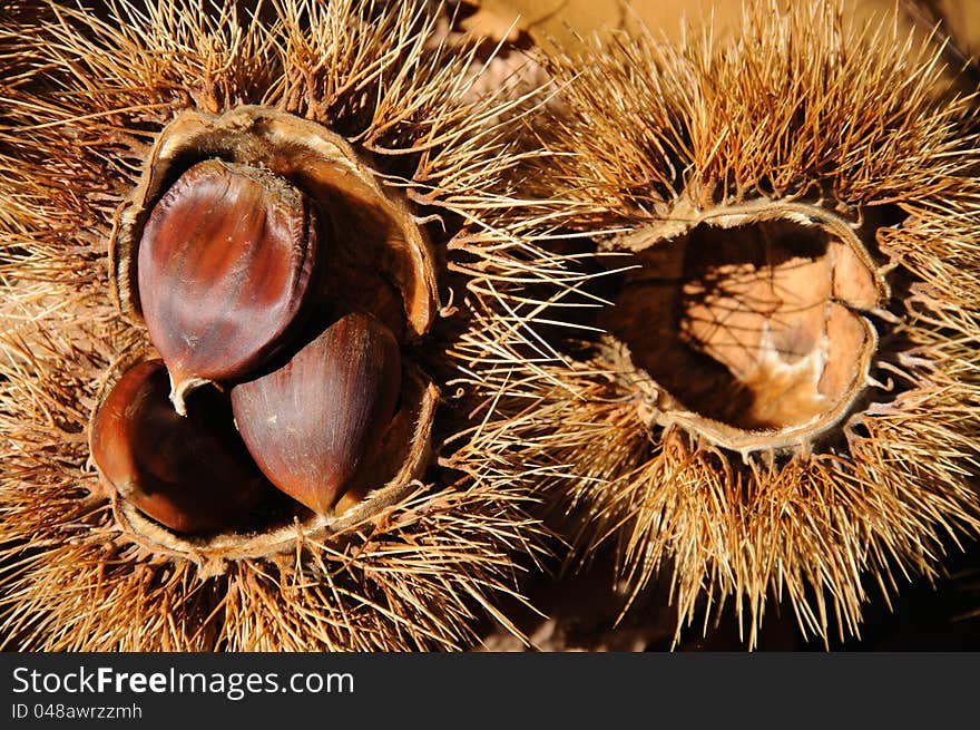
<instances>
[{"instance_id":1,"label":"cluster of three glossy brown chestnuts in the left burr","mask_svg":"<svg viewBox=\"0 0 980 730\"><path fill-rule=\"evenodd\" d=\"M399 402L399 342L331 304L324 223L284 177L218 158L187 168L150 210L138 292L161 360L102 399L91 448L154 520L244 527L272 487L330 515L378 451Z\"/></svg>"}]
</instances>

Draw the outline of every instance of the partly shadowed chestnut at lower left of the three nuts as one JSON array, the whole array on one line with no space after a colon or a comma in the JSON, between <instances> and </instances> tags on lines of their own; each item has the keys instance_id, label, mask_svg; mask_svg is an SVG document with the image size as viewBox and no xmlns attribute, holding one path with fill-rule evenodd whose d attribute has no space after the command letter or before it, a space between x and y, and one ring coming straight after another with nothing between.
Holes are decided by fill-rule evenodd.
<instances>
[{"instance_id":1,"label":"partly shadowed chestnut at lower left of the three nuts","mask_svg":"<svg viewBox=\"0 0 980 730\"><path fill-rule=\"evenodd\" d=\"M146 515L180 533L247 524L275 494L235 430L227 398L202 389L182 417L161 360L127 370L96 412L91 454L102 477Z\"/></svg>"}]
</instances>

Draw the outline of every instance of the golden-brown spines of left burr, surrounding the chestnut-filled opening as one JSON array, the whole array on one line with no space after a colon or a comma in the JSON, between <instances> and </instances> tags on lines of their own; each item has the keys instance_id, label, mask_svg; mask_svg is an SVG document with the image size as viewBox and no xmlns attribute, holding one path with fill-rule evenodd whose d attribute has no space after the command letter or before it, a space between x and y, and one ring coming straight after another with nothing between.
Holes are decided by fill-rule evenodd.
<instances>
[{"instance_id":1,"label":"golden-brown spines of left burr, surrounding the chestnut-filled opening","mask_svg":"<svg viewBox=\"0 0 980 730\"><path fill-rule=\"evenodd\" d=\"M523 485L444 470L329 544L298 533L275 558L158 554L114 519L86 428L106 373L148 343L112 306L107 243L166 123L248 104L321 123L420 220L429 205L503 205L480 191L513 164L497 125L517 101L469 94L473 51L440 46L428 3L236 7L24 2L2 16L3 646L459 649L477 621L507 623L493 605L512 594L511 553L537 549ZM452 221L430 225L438 240Z\"/></svg>"}]
</instances>

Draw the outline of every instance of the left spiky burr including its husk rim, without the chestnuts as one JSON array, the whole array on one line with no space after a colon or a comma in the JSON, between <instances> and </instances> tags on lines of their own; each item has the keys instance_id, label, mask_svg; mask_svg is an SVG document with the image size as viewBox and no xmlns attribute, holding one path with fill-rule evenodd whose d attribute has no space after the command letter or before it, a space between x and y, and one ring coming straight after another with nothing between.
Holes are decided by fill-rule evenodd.
<instances>
[{"instance_id":1,"label":"left spiky burr including its husk rim, without the chestnuts","mask_svg":"<svg viewBox=\"0 0 980 730\"><path fill-rule=\"evenodd\" d=\"M420 341L439 335L441 304L427 282L441 256L435 247L422 262L413 241L427 228L439 243L452 233L447 206L463 214L506 204L483 192L514 162L501 134L506 104L468 95L472 55L439 48L427 3L288 0L262 20L232 2L114 8L99 18L39 3L29 20L0 27L23 61L4 75L16 99L0 130L0 167L10 173L0 189L0 306L11 323L0 335L0 539L3 565L16 566L0 574L3 644L469 645L473 624L512 591L511 555L532 549L538 527L523 512L523 485L434 467L438 391L413 360ZM199 145L171 134L185 125ZM315 129L301 135L311 144L294 144L297 127ZM136 280L117 275L138 247L124 243L126 232L138 242L144 216L195 163L249 165L256 149L274 150L262 155L274 174L330 199L329 233L337 210L351 216L340 217L324 290L345 284L333 288L350 299L339 306L394 320L408 353L402 406L384 457L359 474L332 517L280 505L262 529L177 535L99 483L87 413L102 382L154 354L131 296ZM323 149L337 156L307 166ZM277 160L323 173L323 186L297 185ZM420 222L440 212L445 230ZM431 362L445 357L427 351Z\"/></svg>"}]
</instances>

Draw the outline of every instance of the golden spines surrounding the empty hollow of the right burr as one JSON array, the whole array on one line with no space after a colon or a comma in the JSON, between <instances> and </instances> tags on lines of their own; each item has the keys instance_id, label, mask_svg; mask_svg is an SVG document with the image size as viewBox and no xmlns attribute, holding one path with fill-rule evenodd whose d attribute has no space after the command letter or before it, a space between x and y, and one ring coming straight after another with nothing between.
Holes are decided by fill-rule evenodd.
<instances>
[{"instance_id":1,"label":"golden spines surrounding the empty hollow of the right burr","mask_svg":"<svg viewBox=\"0 0 980 730\"><path fill-rule=\"evenodd\" d=\"M570 565L611 542L635 591L663 581L678 635L699 615L706 631L726 602L748 646L772 602L824 641L834 626L857 634L872 586L886 601L903 580L937 575L943 552L980 528L972 99L948 91L934 47L894 28L852 27L835 2L756 2L731 43L706 30L552 57L561 106L536 133L555 154L521 179L555 214L526 228L508 211L494 246L468 246L484 329L459 349L492 406L488 460L539 475L576 547ZM738 454L651 424L623 362L576 314L602 305L588 281L597 256L627 265L617 235L767 199L855 224L885 205L903 217L878 230L901 285L878 312L879 386L843 446ZM604 234L602 246L574 241Z\"/></svg>"}]
</instances>

